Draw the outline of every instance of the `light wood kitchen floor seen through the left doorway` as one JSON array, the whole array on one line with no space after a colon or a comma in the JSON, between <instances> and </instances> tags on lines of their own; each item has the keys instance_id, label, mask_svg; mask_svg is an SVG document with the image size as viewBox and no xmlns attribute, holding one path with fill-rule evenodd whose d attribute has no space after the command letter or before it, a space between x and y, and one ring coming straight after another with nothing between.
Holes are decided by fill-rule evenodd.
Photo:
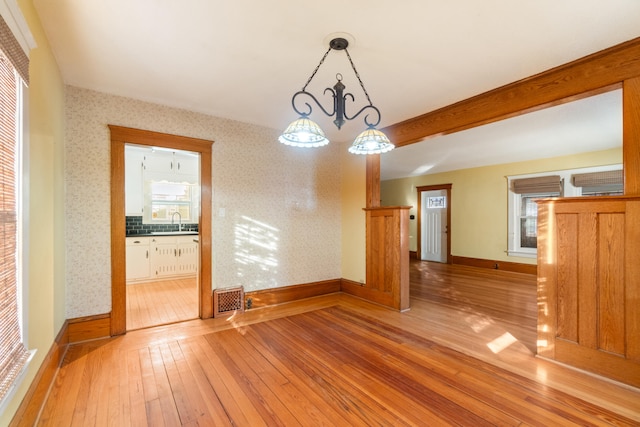
<instances>
[{"instance_id":1,"label":"light wood kitchen floor seen through the left doorway","mask_svg":"<svg viewBox=\"0 0 640 427\"><path fill-rule=\"evenodd\" d=\"M197 276L127 285L127 331L196 318Z\"/></svg>"}]
</instances>

